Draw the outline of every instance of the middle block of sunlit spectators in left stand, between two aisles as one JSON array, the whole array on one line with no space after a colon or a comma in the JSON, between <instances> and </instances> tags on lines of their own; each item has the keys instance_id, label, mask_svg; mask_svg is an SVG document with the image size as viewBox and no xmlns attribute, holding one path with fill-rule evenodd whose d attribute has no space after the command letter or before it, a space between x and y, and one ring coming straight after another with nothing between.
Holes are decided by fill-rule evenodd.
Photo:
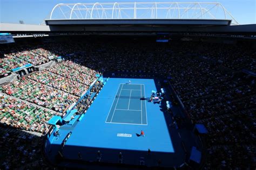
<instances>
[{"instance_id":1,"label":"middle block of sunlit spectators in left stand, between two aisles","mask_svg":"<svg viewBox=\"0 0 256 170\"><path fill-rule=\"evenodd\" d=\"M57 112L65 111L78 97L64 91L45 86L34 80L25 79L6 84L2 91L8 95L35 103Z\"/></svg>"}]
</instances>

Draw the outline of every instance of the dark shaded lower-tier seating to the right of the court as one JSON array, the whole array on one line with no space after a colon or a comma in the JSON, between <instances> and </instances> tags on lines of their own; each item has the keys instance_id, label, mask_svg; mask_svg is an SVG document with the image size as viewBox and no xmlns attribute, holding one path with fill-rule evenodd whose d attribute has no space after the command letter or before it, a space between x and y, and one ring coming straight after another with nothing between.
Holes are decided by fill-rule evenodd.
<instances>
[{"instance_id":1,"label":"dark shaded lower-tier seating to the right of the court","mask_svg":"<svg viewBox=\"0 0 256 170\"><path fill-rule=\"evenodd\" d=\"M204 124L208 130L207 160L211 161L206 168L252 164L255 78L234 75L219 65L193 58L180 59L170 67L173 87L193 122Z\"/></svg>"}]
</instances>

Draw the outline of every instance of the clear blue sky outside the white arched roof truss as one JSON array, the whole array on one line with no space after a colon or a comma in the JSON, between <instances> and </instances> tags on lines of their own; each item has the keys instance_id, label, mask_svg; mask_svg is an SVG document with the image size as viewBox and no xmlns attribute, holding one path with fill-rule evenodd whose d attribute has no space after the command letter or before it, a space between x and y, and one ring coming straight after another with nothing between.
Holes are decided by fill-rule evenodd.
<instances>
[{"instance_id":1,"label":"clear blue sky outside the white arched roof truss","mask_svg":"<svg viewBox=\"0 0 256 170\"><path fill-rule=\"evenodd\" d=\"M0 23L42 24L58 3L95 2L219 2L239 24L256 24L256 0L0 0Z\"/></svg>"}]
</instances>

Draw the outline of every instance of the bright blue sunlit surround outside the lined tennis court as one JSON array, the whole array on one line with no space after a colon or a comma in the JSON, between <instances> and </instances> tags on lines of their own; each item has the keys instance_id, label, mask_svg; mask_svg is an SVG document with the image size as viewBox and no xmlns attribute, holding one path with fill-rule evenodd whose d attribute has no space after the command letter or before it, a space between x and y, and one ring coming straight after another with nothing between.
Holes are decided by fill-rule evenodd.
<instances>
[{"instance_id":1,"label":"bright blue sunlit surround outside the lined tennis court","mask_svg":"<svg viewBox=\"0 0 256 170\"><path fill-rule=\"evenodd\" d=\"M95 101L93 101L91 107L87 110L83 119L73 128L72 136L65 144L64 154L69 155L68 157L70 158L77 157L78 151L75 152L75 155L72 155L68 149L69 146L138 151L147 151L150 148L152 152L174 152L171 135L169 134L165 122L164 112L160 110L159 104L145 102L147 109L147 125L106 123L113 100L116 100L116 94L120 84L125 84L129 82L129 80L132 84L144 84L145 97L150 97L151 91L157 90L153 79L110 78ZM132 88L134 89L134 87ZM119 105L119 107L127 107L126 103L123 104L117 105ZM116 119L114 120L116 121ZM122 120L127 121L127 119ZM140 133L141 130L145 132L145 137L136 136L136 133ZM61 131L62 129L60 128L60 132ZM120 134L131 134L131 137L120 137ZM61 141L56 142L59 143Z\"/></svg>"}]
</instances>

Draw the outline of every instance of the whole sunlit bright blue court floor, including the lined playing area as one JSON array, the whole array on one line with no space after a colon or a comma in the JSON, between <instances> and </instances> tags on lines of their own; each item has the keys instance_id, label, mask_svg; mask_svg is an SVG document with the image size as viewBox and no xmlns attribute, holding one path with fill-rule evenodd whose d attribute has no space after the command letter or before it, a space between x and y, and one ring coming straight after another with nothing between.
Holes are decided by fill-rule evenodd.
<instances>
[{"instance_id":1,"label":"whole sunlit bright blue court floor, including the lined playing area","mask_svg":"<svg viewBox=\"0 0 256 170\"><path fill-rule=\"evenodd\" d=\"M126 84L129 80L131 84ZM159 105L140 100L150 97L152 90L156 90L153 79L109 79L66 146L174 152ZM141 130L145 137L137 137Z\"/></svg>"}]
</instances>

